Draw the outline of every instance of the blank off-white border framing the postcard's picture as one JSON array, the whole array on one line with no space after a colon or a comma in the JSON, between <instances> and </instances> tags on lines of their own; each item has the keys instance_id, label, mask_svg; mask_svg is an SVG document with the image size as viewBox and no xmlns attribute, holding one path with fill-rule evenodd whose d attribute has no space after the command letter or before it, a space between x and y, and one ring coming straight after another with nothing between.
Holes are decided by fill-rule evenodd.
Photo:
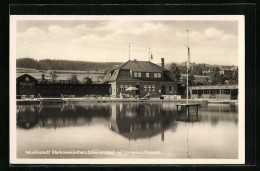
<instances>
[{"instance_id":1,"label":"blank off-white border framing the postcard's picture","mask_svg":"<svg viewBox=\"0 0 260 171\"><path fill-rule=\"evenodd\" d=\"M18 20L176 20L238 21L238 159L19 159L16 156L16 22ZM10 164L244 164L245 163L245 21L243 15L11 15L10 16Z\"/></svg>"}]
</instances>

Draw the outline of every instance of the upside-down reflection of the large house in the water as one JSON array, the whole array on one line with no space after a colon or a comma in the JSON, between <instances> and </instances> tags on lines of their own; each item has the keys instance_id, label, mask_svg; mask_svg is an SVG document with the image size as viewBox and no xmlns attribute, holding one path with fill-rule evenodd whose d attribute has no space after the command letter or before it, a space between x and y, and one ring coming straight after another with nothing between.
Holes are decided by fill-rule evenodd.
<instances>
[{"instance_id":1,"label":"upside-down reflection of the large house in the water","mask_svg":"<svg viewBox=\"0 0 260 171\"><path fill-rule=\"evenodd\" d=\"M176 111L163 110L161 104L113 104L110 129L129 140L161 134L164 141L164 131L177 127L175 117Z\"/></svg>"}]
</instances>

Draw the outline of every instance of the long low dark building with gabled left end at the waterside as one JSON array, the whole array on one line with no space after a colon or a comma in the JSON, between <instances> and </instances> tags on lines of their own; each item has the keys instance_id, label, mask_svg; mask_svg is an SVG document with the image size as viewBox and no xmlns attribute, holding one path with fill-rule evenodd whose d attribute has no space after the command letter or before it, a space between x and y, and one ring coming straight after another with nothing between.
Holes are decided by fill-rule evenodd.
<instances>
[{"instance_id":1,"label":"long low dark building with gabled left end at the waterside","mask_svg":"<svg viewBox=\"0 0 260 171\"><path fill-rule=\"evenodd\" d=\"M62 95L86 95L108 96L111 93L109 84L82 84L82 83L44 83L29 74L24 74L16 79L16 95L21 98L29 95L31 98L40 94L41 97L61 97Z\"/></svg>"}]
</instances>

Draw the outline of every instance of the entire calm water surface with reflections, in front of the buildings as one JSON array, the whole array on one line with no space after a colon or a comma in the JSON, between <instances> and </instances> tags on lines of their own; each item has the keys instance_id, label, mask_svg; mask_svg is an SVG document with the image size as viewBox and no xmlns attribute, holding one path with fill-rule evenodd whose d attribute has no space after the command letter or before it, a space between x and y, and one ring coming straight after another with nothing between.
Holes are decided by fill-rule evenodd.
<instances>
[{"instance_id":1,"label":"entire calm water surface with reflections, in front of the buildings","mask_svg":"<svg viewBox=\"0 0 260 171\"><path fill-rule=\"evenodd\" d=\"M19 105L17 157L237 158L237 110L229 105L204 106L199 121L187 123L177 116L175 104L167 102ZM26 154L28 150L159 153Z\"/></svg>"}]
</instances>

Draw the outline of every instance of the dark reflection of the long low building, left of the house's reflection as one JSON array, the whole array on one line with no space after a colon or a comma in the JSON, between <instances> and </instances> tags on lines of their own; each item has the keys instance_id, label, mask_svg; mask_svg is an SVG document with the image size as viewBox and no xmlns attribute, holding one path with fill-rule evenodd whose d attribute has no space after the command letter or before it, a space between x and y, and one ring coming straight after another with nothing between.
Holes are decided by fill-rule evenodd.
<instances>
[{"instance_id":1,"label":"dark reflection of the long low building, left of the house's reflection","mask_svg":"<svg viewBox=\"0 0 260 171\"><path fill-rule=\"evenodd\" d=\"M26 129L83 126L91 123L93 117L108 120L111 115L109 105L48 104L17 108L17 125Z\"/></svg>"}]
</instances>

